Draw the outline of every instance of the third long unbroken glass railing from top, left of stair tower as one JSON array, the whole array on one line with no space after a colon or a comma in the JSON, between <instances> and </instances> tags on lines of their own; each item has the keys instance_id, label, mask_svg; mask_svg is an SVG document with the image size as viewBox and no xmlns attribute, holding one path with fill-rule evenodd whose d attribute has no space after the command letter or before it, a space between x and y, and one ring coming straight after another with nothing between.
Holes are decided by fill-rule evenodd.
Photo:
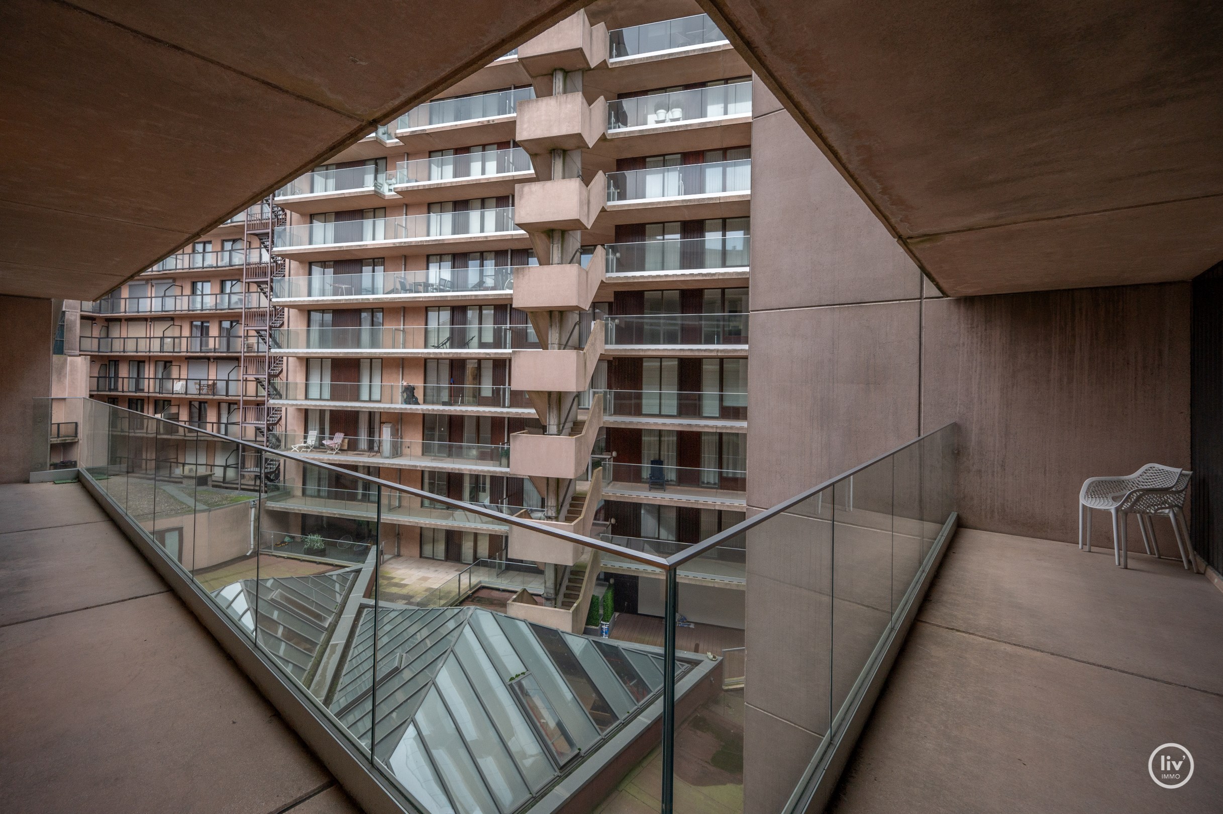
<instances>
[{"instance_id":1,"label":"third long unbroken glass railing from top, left of stair tower","mask_svg":"<svg viewBox=\"0 0 1223 814\"><path fill-rule=\"evenodd\" d=\"M272 331L272 347L284 351L508 351L539 347L539 342L530 325L405 325L283 328Z\"/></svg>"}]
</instances>

